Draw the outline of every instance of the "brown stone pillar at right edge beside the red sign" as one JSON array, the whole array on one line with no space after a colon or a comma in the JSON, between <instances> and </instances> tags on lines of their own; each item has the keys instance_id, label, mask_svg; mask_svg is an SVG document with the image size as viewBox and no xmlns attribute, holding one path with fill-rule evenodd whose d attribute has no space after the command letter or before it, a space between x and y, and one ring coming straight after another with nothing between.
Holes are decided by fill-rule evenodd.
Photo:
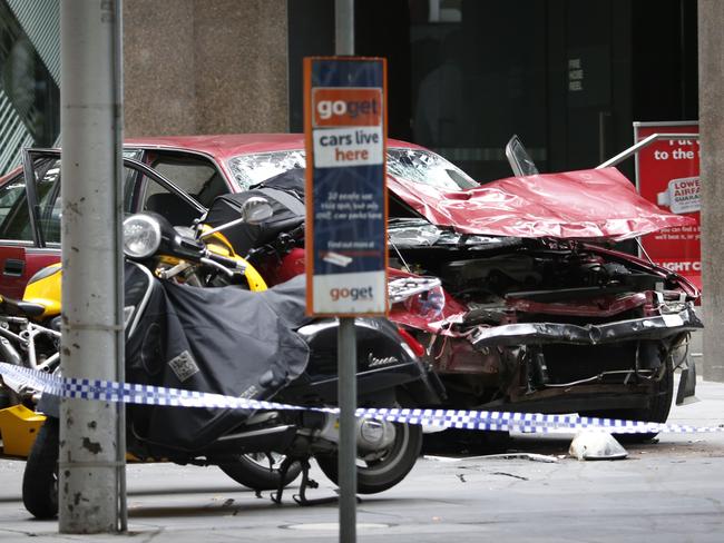
<instances>
[{"instance_id":1,"label":"brown stone pillar at right edge beside the red sign","mask_svg":"<svg viewBox=\"0 0 724 543\"><path fill-rule=\"evenodd\" d=\"M698 0L702 274L706 381L724 382L724 2Z\"/></svg>"}]
</instances>

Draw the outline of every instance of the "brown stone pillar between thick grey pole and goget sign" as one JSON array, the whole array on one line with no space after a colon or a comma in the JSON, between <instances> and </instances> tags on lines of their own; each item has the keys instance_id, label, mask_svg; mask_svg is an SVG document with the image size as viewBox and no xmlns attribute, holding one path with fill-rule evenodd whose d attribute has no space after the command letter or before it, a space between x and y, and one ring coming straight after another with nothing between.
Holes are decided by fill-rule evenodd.
<instances>
[{"instance_id":1,"label":"brown stone pillar between thick grey pole and goget sign","mask_svg":"<svg viewBox=\"0 0 724 543\"><path fill-rule=\"evenodd\" d=\"M126 0L126 135L288 128L286 0Z\"/></svg>"}]
</instances>

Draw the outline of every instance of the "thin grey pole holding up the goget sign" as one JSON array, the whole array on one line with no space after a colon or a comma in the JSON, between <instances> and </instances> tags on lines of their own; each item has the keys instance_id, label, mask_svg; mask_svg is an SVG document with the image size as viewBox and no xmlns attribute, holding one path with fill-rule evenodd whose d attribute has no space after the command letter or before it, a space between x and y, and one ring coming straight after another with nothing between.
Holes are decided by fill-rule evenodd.
<instances>
[{"instance_id":1,"label":"thin grey pole holding up the goget sign","mask_svg":"<svg viewBox=\"0 0 724 543\"><path fill-rule=\"evenodd\" d=\"M354 55L354 0L334 2L334 52ZM337 336L340 403L340 541L356 541L356 334L354 318L341 317Z\"/></svg>"}]
</instances>

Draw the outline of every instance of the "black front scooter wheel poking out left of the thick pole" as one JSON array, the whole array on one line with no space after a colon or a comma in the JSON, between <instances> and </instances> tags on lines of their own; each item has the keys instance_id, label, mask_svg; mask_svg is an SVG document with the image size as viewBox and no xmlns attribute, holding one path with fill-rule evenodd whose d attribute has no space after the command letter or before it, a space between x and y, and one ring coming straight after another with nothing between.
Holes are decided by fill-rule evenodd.
<instances>
[{"instance_id":1,"label":"black front scooter wheel poking out left of the thick pole","mask_svg":"<svg viewBox=\"0 0 724 543\"><path fill-rule=\"evenodd\" d=\"M47 418L22 474L22 503L37 519L52 519L58 514L58 419Z\"/></svg>"}]
</instances>

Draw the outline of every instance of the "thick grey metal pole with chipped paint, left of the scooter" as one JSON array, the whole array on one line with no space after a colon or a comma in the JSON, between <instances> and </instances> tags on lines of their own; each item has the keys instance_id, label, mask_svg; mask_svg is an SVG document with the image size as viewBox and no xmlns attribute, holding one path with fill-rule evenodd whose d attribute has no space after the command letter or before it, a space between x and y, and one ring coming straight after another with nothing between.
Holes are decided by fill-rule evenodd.
<instances>
[{"instance_id":1,"label":"thick grey metal pole with chipped paint, left of the scooter","mask_svg":"<svg viewBox=\"0 0 724 543\"><path fill-rule=\"evenodd\" d=\"M123 379L120 13L120 0L60 2L66 377ZM61 402L60 532L125 529L119 421L120 404Z\"/></svg>"}]
</instances>

